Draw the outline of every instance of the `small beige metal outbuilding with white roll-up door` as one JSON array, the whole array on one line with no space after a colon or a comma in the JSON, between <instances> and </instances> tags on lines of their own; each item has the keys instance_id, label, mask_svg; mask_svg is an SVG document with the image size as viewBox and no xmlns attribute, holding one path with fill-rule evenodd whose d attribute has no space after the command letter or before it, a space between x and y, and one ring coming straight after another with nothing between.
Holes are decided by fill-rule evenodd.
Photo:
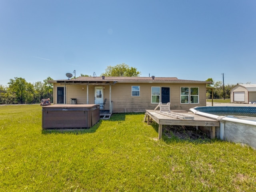
<instances>
[{"instance_id":1,"label":"small beige metal outbuilding with white roll-up door","mask_svg":"<svg viewBox=\"0 0 256 192\"><path fill-rule=\"evenodd\" d=\"M230 91L230 101L239 103L256 102L256 84L237 84Z\"/></svg>"}]
</instances>

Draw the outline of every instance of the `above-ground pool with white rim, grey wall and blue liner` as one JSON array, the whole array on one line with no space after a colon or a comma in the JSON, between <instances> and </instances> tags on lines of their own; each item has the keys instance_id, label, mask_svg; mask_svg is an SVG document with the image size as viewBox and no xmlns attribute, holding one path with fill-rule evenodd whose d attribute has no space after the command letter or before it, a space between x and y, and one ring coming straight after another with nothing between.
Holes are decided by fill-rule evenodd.
<instances>
[{"instance_id":1,"label":"above-ground pool with white rim, grey wall and blue liner","mask_svg":"<svg viewBox=\"0 0 256 192\"><path fill-rule=\"evenodd\" d=\"M231 107L231 106L209 106L209 107L195 107L191 108L194 114L205 116L220 121L220 127L215 128L215 135L221 140L226 140L235 143L249 145L256 149L256 122L249 120L242 120L236 118L229 118L226 116L218 116L207 112L221 111L221 112L244 112L255 113L256 107ZM206 133L209 131L207 127L201 128Z\"/></svg>"}]
</instances>

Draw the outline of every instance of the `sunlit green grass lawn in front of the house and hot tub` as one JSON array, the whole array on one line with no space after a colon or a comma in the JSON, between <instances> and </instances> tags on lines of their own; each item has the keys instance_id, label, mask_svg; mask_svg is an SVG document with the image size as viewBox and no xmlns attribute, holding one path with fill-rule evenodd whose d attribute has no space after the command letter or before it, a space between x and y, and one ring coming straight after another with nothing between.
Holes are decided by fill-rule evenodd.
<instances>
[{"instance_id":1,"label":"sunlit green grass lawn in front of the house and hot tub","mask_svg":"<svg viewBox=\"0 0 256 192\"><path fill-rule=\"evenodd\" d=\"M42 132L39 105L0 106L0 191L256 190L256 150L158 137L144 114Z\"/></svg>"}]
</instances>

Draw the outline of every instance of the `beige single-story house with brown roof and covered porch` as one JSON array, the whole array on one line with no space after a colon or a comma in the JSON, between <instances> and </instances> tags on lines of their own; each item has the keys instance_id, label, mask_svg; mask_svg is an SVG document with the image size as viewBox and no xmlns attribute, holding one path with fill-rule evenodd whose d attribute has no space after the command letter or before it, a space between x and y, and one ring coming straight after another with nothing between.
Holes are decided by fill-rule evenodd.
<instances>
[{"instance_id":1,"label":"beige single-story house with brown roof and covered porch","mask_svg":"<svg viewBox=\"0 0 256 192\"><path fill-rule=\"evenodd\" d=\"M170 102L171 110L206 106L206 85L211 82L176 77L78 77L50 80L54 104L102 104L114 113L154 110Z\"/></svg>"}]
</instances>

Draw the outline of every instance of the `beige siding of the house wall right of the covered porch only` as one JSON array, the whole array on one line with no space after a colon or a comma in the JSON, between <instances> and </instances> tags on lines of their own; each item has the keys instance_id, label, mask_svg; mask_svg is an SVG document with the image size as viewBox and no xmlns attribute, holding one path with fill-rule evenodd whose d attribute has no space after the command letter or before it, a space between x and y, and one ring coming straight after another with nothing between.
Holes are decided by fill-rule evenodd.
<instances>
[{"instance_id":1,"label":"beige siding of the house wall right of the covered porch only","mask_svg":"<svg viewBox=\"0 0 256 192\"><path fill-rule=\"evenodd\" d=\"M132 96L132 86L140 86L140 96ZM198 87L198 104L181 104L180 87ZM170 87L171 110L189 110L196 106L206 106L205 84L130 84L119 83L112 88L113 112L145 112L154 110L158 104L151 103L151 87Z\"/></svg>"}]
</instances>

